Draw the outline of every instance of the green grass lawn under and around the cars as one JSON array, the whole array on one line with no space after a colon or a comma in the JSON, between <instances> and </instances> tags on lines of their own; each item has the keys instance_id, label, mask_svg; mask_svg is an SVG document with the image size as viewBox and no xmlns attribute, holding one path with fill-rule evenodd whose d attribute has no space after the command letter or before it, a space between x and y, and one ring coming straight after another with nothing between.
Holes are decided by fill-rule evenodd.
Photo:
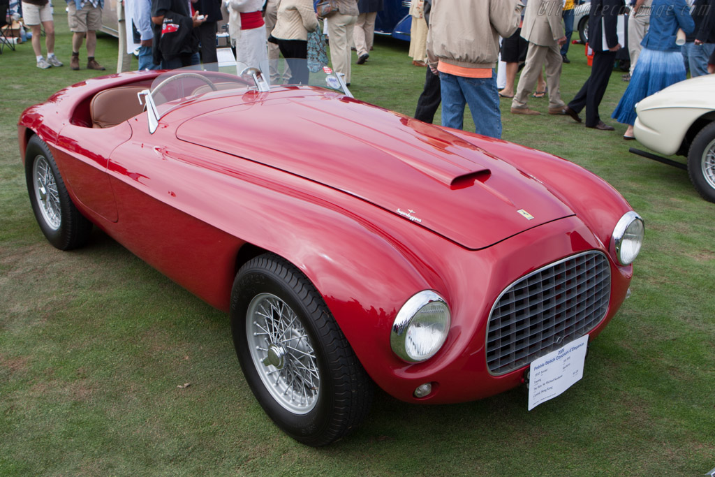
<instances>
[{"instance_id":1,"label":"green grass lawn under and around the cars","mask_svg":"<svg viewBox=\"0 0 715 477\"><path fill-rule=\"evenodd\" d=\"M56 12L56 52L69 64L66 16ZM96 56L115 71L117 40L101 36ZM583 46L569 56L566 101L588 75ZM633 296L591 344L583 380L531 412L523 389L439 406L378 392L358 431L313 449L256 403L224 313L101 232L75 252L46 243L17 118L101 73L36 69L29 44L6 49L0 68L0 476L672 476L715 467L715 205L685 172L628 154L625 128L608 119L626 87L621 72L601 104L616 132L514 116L502 100L505 139L604 177L646 220ZM368 64L353 66L351 90L413 114L424 74L406 44L380 39ZM529 106L546 113L548 104Z\"/></svg>"}]
</instances>

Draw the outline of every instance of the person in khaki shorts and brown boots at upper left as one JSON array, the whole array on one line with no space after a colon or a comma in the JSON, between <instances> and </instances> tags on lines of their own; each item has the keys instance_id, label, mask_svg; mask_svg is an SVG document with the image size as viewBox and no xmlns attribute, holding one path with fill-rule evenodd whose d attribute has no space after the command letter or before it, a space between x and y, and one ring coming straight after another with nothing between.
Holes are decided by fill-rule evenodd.
<instances>
[{"instance_id":1,"label":"person in khaki shorts and brown boots at upper left","mask_svg":"<svg viewBox=\"0 0 715 477\"><path fill-rule=\"evenodd\" d=\"M102 28L102 9L104 0L67 0L67 22L72 32L71 69L79 69L79 49L87 37L87 69L104 71L104 67L94 59L97 48L97 30Z\"/></svg>"}]
</instances>

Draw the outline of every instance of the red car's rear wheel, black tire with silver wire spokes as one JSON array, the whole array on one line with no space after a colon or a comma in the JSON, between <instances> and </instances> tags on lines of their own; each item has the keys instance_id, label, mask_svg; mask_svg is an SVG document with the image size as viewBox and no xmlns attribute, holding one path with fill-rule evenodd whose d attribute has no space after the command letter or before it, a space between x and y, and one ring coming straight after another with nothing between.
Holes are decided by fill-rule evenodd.
<instances>
[{"instance_id":1,"label":"red car's rear wheel, black tire with silver wire spokes","mask_svg":"<svg viewBox=\"0 0 715 477\"><path fill-rule=\"evenodd\" d=\"M74 207L49 147L36 135L27 143L25 178L32 212L47 240L59 250L86 244L92 222Z\"/></svg>"}]
</instances>

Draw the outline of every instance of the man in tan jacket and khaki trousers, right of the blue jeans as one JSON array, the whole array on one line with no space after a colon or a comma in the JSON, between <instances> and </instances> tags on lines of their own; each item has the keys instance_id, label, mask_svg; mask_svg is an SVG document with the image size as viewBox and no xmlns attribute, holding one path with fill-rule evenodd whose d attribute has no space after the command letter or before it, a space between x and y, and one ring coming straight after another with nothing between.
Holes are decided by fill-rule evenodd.
<instances>
[{"instance_id":1,"label":"man in tan jacket and khaki trousers, right of the blue jeans","mask_svg":"<svg viewBox=\"0 0 715 477\"><path fill-rule=\"evenodd\" d=\"M513 114L541 114L529 109L527 102L546 63L548 88L548 114L565 114L566 104L561 100L561 45L566 43L561 23L563 0L530 0L526 5L521 36L529 42L526 66L521 72L516 94L511 102Z\"/></svg>"}]
</instances>

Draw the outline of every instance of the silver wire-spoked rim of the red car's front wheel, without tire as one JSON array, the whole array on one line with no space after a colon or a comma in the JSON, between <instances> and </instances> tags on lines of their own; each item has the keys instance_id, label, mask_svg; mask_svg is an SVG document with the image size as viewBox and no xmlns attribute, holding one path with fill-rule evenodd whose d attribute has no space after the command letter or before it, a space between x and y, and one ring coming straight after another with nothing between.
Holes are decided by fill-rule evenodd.
<instances>
[{"instance_id":1,"label":"silver wire-spoked rim of the red car's front wheel, without tire","mask_svg":"<svg viewBox=\"0 0 715 477\"><path fill-rule=\"evenodd\" d=\"M309 413L320 395L320 371L310 338L295 312L276 295L248 305L246 338L265 388L283 408Z\"/></svg>"}]
</instances>

